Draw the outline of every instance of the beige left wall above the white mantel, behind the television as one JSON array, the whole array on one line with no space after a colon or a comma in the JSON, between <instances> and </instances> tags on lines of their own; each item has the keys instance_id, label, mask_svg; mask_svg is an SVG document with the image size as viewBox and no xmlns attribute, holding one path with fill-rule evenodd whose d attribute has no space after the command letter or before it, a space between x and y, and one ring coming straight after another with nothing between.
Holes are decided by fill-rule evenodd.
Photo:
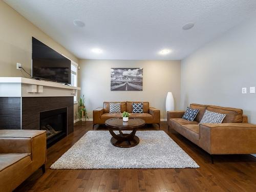
<instances>
[{"instance_id":1,"label":"beige left wall above the white mantel, behind the television","mask_svg":"<svg viewBox=\"0 0 256 192\"><path fill-rule=\"evenodd\" d=\"M20 70L16 69L17 62L22 63L25 70L31 73L32 36L78 62L73 54L0 1L0 76L24 77Z\"/></svg>"}]
</instances>

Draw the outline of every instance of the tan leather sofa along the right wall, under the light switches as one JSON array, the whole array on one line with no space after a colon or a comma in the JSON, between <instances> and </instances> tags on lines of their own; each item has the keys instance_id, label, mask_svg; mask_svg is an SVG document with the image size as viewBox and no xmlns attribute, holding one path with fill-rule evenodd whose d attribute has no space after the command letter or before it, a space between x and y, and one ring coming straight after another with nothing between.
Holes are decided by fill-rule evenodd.
<instances>
[{"instance_id":1,"label":"tan leather sofa along the right wall, under the light switches","mask_svg":"<svg viewBox=\"0 0 256 192\"><path fill-rule=\"evenodd\" d=\"M211 155L256 153L256 125L248 123L241 109L195 103L190 108L200 110L195 121L182 119L184 111L168 111L169 127ZM206 109L226 117L222 123L199 125Z\"/></svg>"}]
</instances>

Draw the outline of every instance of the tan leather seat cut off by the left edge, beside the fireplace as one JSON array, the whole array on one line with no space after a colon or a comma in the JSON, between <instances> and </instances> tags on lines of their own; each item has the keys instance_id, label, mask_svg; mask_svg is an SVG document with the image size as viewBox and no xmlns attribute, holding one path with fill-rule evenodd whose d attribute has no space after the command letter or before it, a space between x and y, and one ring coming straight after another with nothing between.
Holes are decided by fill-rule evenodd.
<instances>
[{"instance_id":1,"label":"tan leather seat cut off by the left edge, beside the fireplace","mask_svg":"<svg viewBox=\"0 0 256 192\"><path fill-rule=\"evenodd\" d=\"M38 168L45 173L46 131L0 130L0 191L12 191Z\"/></svg>"}]
</instances>

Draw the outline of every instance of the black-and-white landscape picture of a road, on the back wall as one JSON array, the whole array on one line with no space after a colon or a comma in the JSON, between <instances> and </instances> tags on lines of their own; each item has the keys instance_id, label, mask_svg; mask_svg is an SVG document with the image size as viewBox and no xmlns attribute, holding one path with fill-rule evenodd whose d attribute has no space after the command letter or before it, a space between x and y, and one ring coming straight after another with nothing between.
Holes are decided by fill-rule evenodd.
<instances>
[{"instance_id":1,"label":"black-and-white landscape picture of a road, on the back wall","mask_svg":"<svg viewBox=\"0 0 256 192\"><path fill-rule=\"evenodd\" d=\"M142 68L111 68L111 91L142 91Z\"/></svg>"}]
</instances>

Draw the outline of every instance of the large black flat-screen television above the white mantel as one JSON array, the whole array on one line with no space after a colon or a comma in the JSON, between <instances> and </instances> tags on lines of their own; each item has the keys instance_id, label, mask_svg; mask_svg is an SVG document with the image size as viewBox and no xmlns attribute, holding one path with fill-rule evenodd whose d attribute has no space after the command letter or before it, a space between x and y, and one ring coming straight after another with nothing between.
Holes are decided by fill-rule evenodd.
<instances>
[{"instance_id":1,"label":"large black flat-screen television above the white mantel","mask_svg":"<svg viewBox=\"0 0 256 192\"><path fill-rule=\"evenodd\" d=\"M71 61L32 37L32 77L71 84Z\"/></svg>"}]
</instances>

